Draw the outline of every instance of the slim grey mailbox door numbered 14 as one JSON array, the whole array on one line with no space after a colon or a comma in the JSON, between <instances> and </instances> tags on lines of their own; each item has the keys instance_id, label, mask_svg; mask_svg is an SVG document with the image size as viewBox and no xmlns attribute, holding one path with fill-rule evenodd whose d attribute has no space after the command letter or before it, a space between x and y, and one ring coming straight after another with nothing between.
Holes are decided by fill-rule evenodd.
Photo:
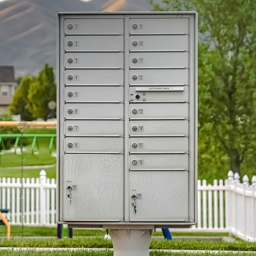
<instances>
[{"instance_id":1,"label":"slim grey mailbox door numbered 14","mask_svg":"<svg viewBox=\"0 0 256 256\"><path fill-rule=\"evenodd\" d=\"M134 120L129 122L131 137L189 136L188 120Z\"/></svg>"}]
</instances>

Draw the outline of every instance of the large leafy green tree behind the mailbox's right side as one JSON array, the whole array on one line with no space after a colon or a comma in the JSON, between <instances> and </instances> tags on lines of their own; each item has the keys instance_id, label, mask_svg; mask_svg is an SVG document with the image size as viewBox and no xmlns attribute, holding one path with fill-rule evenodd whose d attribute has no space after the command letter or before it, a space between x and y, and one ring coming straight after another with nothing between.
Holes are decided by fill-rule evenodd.
<instances>
[{"instance_id":1,"label":"large leafy green tree behind the mailbox's right side","mask_svg":"<svg viewBox=\"0 0 256 256\"><path fill-rule=\"evenodd\" d=\"M150 0L155 11L196 10L199 39L198 87L201 136L218 145L240 173L249 151L256 150L256 1ZM199 143L202 137L198 138ZM200 155L199 155L200 157ZM253 158L255 158L255 153Z\"/></svg>"}]
</instances>

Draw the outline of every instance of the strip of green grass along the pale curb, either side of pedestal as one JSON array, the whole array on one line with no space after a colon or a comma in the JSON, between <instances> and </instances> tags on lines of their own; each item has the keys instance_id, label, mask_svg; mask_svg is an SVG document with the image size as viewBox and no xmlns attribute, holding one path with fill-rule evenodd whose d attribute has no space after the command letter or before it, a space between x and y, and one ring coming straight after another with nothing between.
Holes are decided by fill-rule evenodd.
<instances>
[{"instance_id":1,"label":"strip of green grass along the pale curb, either side of pedestal","mask_svg":"<svg viewBox=\"0 0 256 256\"><path fill-rule=\"evenodd\" d=\"M75 236L73 239L2 239L0 247L64 247L64 248L113 248L111 240L105 240L102 236L86 238ZM175 239L152 239L150 249L172 250L235 250L256 251L256 243L247 241L201 241Z\"/></svg>"}]
</instances>

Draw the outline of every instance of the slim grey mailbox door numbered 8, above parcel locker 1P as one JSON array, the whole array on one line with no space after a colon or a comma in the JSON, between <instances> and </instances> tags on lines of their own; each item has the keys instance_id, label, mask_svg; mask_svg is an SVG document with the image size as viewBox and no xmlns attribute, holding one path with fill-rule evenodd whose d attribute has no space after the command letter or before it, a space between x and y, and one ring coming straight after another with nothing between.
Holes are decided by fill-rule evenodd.
<instances>
[{"instance_id":1,"label":"slim grey mailbox door numbered 8, above parcel locker 1P","mask_svg":"<svg viewBox=\"0 0 256 256\"><path fill-rule=\"evenodd\" d=\"M67 137L65 139L66 153L124 153L123 138L100 138L100 137Z\"/></svg>"}]
</instances>

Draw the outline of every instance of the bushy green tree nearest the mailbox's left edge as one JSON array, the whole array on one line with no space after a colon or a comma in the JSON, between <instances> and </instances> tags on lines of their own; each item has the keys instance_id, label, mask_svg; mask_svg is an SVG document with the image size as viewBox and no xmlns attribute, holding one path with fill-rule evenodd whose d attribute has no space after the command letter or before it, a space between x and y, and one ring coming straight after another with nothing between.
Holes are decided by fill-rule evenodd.
<instances>
[{"instance_id":1,"label":"bushy green tree nearest the mailbox's left edge","mask_svg":"<svg viewBox=\"0 0 256 256\"><path fill-rule=\"evenodd\" d=\"M56 101L56 88L53 68L45 64L44 69L38 73L37 81L33 82L29 87L29 102L26 108L28 108L35 119L48 119L51 113L48 103Z\"/></svg>"}]
</instances>

